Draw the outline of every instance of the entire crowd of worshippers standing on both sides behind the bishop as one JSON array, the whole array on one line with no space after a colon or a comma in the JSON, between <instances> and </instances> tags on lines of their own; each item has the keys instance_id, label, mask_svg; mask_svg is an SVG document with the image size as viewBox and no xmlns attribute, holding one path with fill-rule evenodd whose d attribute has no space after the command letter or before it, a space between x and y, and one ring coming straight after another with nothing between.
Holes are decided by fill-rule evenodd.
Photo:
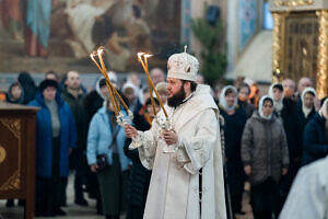
<instances>
[{"instance_id":1,"label":"entire crowd of worshippers standing on both sides behind the bishop","mask_svg":"<svg viewBox=\"0 0 328 219\"><path fill-rule=\"evenodd\" d=\"M137 74L129 74L124 84L115 72L108 76L133 111L133 126L141 131L155 129L150 99L154 94L149 93L148 87L140 84ZM165 104L168 97L165 73L156 68L151 71L151 78ZM202 78L195 81L202 83ZM220 126L224 131L221 140L229 218L245 214L242 206L245 182L250 184L255 219L278 218L282 209L282 218L288 218L291 201L284 204L298 170L328 154L328 100L319 100L312 80L305 77L297 87L291 79L272 83L261 96L249 79L211 93L224 118ZM87 206L84 193L89 193L89 197L96 199L97 214L106 218L119 218L121 214L127 214L128 219L143 217L151 177L162 176L156 170L152 176L152 171L144 168L154 165L143 158L144 153L153 153L149 148L143 152L129 150L131 139L116 123L109 100L103 77L94 90L87 92L77 71L69 71L61 80L49 71L38 87L27 72L22 72L10 85L7 102L40 107L37 113L36 216L66 215L61 207L67 205L71 170L77 205ZM155 111L159 110L155 99ZM133 131L131 129L131 134ZM157 188L152 186L151 189ZM12 205L13 200L8 200L8 206Z\"/></svg>"}]
</instances>

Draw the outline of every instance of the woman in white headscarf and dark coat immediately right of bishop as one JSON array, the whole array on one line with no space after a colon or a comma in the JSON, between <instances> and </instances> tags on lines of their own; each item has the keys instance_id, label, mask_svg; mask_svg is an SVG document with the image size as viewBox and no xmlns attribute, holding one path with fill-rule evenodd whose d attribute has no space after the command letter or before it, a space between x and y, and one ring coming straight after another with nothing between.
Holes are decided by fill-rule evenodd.
<instances>
[{"instance_id":1,"label":"woman in white headscarf and dark coat immediately right of bishop","mask_svg":"<svg viewBox=\"0 0 328 219\"><path fill-rule=\"evenodd\" d=\"M224 117L225 162L230 186L233 215L243 214L242 199L245 174L241 158L241 140L247 116L237 105L235 87L224 87L220 94L220 114Z\"/></svg>"}]
</instances>

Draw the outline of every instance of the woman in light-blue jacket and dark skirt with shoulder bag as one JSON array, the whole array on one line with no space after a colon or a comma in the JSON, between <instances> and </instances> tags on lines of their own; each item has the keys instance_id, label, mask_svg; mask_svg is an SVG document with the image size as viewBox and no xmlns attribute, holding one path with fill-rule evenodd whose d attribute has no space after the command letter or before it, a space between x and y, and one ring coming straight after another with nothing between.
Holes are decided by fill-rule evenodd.
<instances>
[{"instance_id":1,"label":"woman in light-blue jacket and dark skirt with shoulder bag","mask_svg":"<svg viewBox=\"0 0 328 219\"><path fill-rule=\"evenodd\" d=\"M125 155L125 130L116 123L112 103L107 100L93 116L87 134L87 163L97 173L103 212L106 218L119 218L125 206L125 185L129 159Z\"/></svg>"}]
</instances>

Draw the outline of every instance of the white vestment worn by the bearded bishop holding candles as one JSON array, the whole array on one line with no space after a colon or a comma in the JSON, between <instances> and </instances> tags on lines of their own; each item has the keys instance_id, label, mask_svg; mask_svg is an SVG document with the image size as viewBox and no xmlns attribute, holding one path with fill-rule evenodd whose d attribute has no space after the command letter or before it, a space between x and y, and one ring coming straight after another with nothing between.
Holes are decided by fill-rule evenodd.
<instances>
[{"instance_id":1,"label":"white vestment worn by the bearded bishop holding candles","mask_svg":"<svg viewBox=\"0 0 328 219\"><path fill-rule=\"evenodd\" d=\"M210 95L210 87L198 84L187 102L177 108L166 108L178 136L176 152L163 152L165 141L160 138L161 128L156 122L150 130L138 134L142 142L140 160L152 170L143 218L225 219L219 108ZM162 111L157 117L163 120Z\"/></svg>"}]
</instances>

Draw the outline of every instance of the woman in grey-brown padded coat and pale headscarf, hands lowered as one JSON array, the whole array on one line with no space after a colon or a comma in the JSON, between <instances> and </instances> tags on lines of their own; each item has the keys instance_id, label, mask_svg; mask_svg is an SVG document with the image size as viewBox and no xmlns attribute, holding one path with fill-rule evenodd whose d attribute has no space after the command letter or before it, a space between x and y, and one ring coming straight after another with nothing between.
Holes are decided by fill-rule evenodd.
<instances>
[{"instance_id":1,"label":"woman in grey-brown padded coat and pale headscarf, hands lowered","mask_svg":"<svg viewBox=\"0 0 328 219\"><path fill-rule=\"evenodd\" d=\"M271 219L279 200L279 181L289 165L286 137L267 95L247 120L242 138L242 160L248 175L255 219Z\"/></svg>"}]
</instances>

